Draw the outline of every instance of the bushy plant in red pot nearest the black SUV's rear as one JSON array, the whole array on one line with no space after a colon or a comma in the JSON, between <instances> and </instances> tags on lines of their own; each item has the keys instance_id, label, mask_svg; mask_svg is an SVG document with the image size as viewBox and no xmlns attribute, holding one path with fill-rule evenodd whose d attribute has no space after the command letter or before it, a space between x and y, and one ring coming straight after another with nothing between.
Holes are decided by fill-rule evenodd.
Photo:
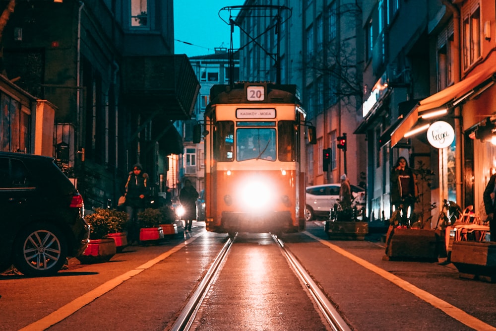
<instances>
[{"instance_id":1,"label":"bushy plant in red pot nearest the black SUV's rear","mask_svg":"<svg viewBox=\"0 0 496 331\"><path fill-rule=\"evenodd\" d=\"M126 219L125 212L115 209L95 208L93 213L86 215L85 220L90 225L90 242L77 259L86 264L109 261L117 253L116 242L119 242L119 247L127 245L122 235L118 240L109 237L110 233L122 233Z\"/></svg>"}]
</instances>

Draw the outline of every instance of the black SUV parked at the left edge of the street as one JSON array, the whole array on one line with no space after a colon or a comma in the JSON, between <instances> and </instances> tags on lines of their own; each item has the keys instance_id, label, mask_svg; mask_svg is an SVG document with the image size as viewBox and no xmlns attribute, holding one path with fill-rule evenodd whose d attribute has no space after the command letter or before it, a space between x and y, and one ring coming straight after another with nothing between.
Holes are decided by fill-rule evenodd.
<instances>
[{"instance_id":1,"label":"black SUV parked at the left edge of the street","mask_svg":"<svg viewBox=\"0 0 496 331\"><path fill-rule=\"evenodd\" d=\"M89 241L83 199L46 156L0 152L0 272L57 273Z\"/></svg>"}]
</instances>

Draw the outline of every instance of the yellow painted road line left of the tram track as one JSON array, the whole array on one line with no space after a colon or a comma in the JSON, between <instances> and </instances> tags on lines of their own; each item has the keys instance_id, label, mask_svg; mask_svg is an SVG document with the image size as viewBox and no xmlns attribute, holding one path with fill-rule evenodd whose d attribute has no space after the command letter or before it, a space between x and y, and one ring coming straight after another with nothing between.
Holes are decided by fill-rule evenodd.
<instances>
[{"instance_id":1,"label":"yellow painted road line left of the tram track","mask_svg":"<svg viewBox=\"0 0 496 331\"><path fill-rule=\"evenodd\" d=\"M162 253L161 255L157 256L156 258L136 267L135 269L129 270L125 273L123 273L120 276L115 277L114 279L108 280L102 285L96 287L95 289L89 291L88 293L85 293L81 295L80 297L72 300L68 304L62 306L61 308L57 309L53 313L45 316L41 320L38 320L36 322L31 323L30 325L20 329L20 331L42 331L50 328L51 326L61 322L62 320L66 319L70 315L74 314L76 311L79 309L83 308L87 304L91 303L98 297L104 295L105 293L109 292L113 288L119 286L122 284L124 281L131 279L135 275L141 273L142 271L152 267L153 265L156 265L160 261L168 258L172 254L176 253L186 245L192 243L195 241L198 237L202 236L205 233L205 231L201 231L198 234L195 234L193 237L190 237L188 240L182 242L179 245L176 245L169 251Z\"/></svg>"}]
</instances>

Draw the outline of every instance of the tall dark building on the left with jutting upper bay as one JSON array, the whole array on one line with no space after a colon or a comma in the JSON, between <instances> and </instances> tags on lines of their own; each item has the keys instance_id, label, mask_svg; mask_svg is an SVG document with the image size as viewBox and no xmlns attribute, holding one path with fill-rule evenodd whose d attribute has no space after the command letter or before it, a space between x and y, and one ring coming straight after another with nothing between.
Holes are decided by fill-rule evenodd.
<instances>
[{"instance_id":1,"label":"tall dark building on the left with jutting upper bay","mask_svg":"<svg viewBox=\"0 0 496 331\"><path fill-rule=\"evenodd\" d=\"M161 192L167 156L183 152L173 123L190 118L199 89L186 56L174 55L173 1L7 2L15 10L1 39L3 75L53 105L45 155L86 206L115 206L137 162ZM33 128L37 118L24 121Z\"/></svg>"}]
</instances>

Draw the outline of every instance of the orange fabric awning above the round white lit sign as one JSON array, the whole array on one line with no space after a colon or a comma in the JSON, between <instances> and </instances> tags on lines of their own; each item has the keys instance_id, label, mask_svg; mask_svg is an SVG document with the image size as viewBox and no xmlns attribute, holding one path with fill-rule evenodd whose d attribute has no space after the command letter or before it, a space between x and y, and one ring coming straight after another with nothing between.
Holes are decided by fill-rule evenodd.
<instances>
[{"instance_id":1,"label":"orange fabric awning above the round white lit sign","mask_svg":"<svg viewBox=\"0 0 496 331\"><path fill-rule=\"evenodd\" d=\"M495 68L488 67L421 100L418 106L405 116L405 119L398 128L391 133L391 147L396 145L403 138L405 133L410 131L417 124L419 116L422 116L423 112L442 106L452 108L453 106L468 100L468 98L475 94L480 88L484 88L480 85L487 80L492 79L494 74Z\"/></svg>"}]
</instances>

